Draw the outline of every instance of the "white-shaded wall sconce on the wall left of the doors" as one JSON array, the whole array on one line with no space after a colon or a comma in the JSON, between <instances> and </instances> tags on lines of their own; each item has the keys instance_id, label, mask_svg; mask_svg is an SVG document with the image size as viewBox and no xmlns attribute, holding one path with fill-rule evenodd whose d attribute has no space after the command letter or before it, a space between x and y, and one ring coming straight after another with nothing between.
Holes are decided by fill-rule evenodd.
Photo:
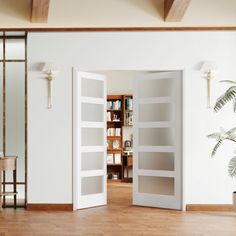
<instances>
[{"instance_id":1,"label":"white-shaded wall sconce on the wall left of the doors","mask_svg":"<svg viewBox=\"0 0 236 236\"><path fill-rule=\"evenodd\" d=\"M55 79L57 68L52 62L43 64L42 73L46 74L48 80L48 109L52 108L52 81Z\"/></svg>"}]
</instances>

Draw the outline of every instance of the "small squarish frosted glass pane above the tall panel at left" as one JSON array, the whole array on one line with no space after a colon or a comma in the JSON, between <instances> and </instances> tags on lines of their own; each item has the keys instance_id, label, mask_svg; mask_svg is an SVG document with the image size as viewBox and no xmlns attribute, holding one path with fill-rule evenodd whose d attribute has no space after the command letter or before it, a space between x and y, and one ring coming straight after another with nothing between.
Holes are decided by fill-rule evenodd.
<instances>
[{"instance_id":1,"label":"small squarish frosted glass pane above the tall panel at left","mask_svg":"<svg viewBox=\"0 0 236 236\"><path fill-rule=\"evenodd\" d=\"M6 59L25 59L24 39L6 39Z\"/></svg>"}]
</instances>

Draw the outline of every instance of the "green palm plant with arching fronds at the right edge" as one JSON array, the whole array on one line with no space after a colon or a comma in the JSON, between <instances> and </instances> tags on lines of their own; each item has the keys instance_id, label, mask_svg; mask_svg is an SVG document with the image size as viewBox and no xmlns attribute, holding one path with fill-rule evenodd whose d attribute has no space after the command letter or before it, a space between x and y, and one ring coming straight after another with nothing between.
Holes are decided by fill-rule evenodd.
<instances>
[{"instance_id":1,"label":"green palm plant with arching fronds at the right edge","mask_svg":"<svg viewBox=\"0 0 236 236\"><path fill-rule=\"evenodd\" d=\"M223 93L216 101L214 106L214 111L220 111L227 103L233 102L233 110L236 112L236 81L232 80L222 80L220 82L231 84L230 88L228 88L225 93ZM216 132L213 134L209 134L208 138L214 138L216 140L216 144L213 147L211 156L214 157L216 151L221 146L223 141L229 140L232 142L236 142L236 127L225 131L223 128L220 128L220 132ZM228 164L228 173L229 176L236 177L236 156L232 157ZM233 192L233 206L236 211L236 191Z\"/></svg>"}]
</instances>

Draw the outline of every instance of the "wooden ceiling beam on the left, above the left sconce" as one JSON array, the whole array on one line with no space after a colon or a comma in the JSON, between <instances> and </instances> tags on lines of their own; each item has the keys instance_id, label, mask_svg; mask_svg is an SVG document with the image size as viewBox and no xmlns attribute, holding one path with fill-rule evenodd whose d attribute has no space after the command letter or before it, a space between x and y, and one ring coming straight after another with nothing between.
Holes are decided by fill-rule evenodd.
<instances>
[{"instance_id":1,"label":"wooden ceiling beam on the left, above the left sconce","mask_svg":"<svg viewBox=\"0 0 236 236\"><path fill-rule=\"evenodd\" d=\"M50 0L32 0L31 22L47 23Z\"/></svg>"}]
</instances>

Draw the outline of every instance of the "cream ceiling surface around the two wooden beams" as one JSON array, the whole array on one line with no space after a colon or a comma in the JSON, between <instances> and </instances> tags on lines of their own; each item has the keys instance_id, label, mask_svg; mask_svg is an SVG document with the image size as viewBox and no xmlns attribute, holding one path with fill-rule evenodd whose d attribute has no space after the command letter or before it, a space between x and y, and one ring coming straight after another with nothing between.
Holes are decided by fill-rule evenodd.
<instances>
[{"instance_id":1,"label":"cream ceiling surface around the two wooden beams","mask_svg":"<svg viewBox=\"0 0 236 236\"><path fill-rule=\"evenodd\" d=\"M166 22L164 0L50 0L47 23L32 23L31 0L0 0L0 28L236 26L235 12L236 0L191 0Z\"/></svg>"}]
</instances>

